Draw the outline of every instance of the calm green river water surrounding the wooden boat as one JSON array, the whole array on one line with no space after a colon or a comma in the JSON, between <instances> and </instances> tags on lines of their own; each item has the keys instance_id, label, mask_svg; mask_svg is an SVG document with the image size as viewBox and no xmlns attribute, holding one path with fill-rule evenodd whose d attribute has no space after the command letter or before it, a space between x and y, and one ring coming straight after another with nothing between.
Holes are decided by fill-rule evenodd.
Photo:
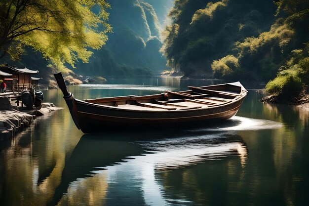
<instances>
[{"instance_id":1,"label":"calm green river water surrounding the wooden boat","mask_svg":"<svg viewBox=\"0 0 309 206\"><path fill-rule=\"evenodd\" d=\"M79 99L219 82L154 78L69 86ZM83 134L63 110L0 143L1 206L309 206L309 113L258 102L192 130Z\"/></svg>"}]
</instances>

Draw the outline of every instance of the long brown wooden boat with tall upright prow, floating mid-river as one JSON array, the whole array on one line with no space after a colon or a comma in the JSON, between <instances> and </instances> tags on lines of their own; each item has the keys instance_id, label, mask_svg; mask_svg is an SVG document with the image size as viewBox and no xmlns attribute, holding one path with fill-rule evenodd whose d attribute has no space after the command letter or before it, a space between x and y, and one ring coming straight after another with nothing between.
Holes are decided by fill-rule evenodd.
<instances>
[{"instance_id":1,"label":"long brown wooden boat with tall upright prow, floating mid-river","mask_svg":"<svg viewBox=\"0 0 309 206\"><path fill-rule=\"evenodd\" d=\"M166 91L147 96L119 96L78 100L67 90L61 73L54 74L78 129L161 128L207 125L234 116L247 90L240 82Z\"/></svg>"}]
</instances>

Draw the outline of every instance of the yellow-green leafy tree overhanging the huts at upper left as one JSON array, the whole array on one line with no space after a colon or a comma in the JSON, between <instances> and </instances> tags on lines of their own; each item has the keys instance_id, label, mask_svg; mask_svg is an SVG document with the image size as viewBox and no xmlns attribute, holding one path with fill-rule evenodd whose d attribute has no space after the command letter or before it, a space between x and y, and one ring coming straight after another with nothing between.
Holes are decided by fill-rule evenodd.
<instances>
[{"instance_id":1,"label":"yellow-green leafy tree overhanging the huts at upper left","mask_svg":"<svg viewBox=\"0 0 309 206\"><path fill-rule=\"evenodd\" d=\"M18 59L30 46L58 67L88 62L89 48L101 48L111 32L109 7L106 0L0 0L0 58Z\"/></svg>"}]
</instances>

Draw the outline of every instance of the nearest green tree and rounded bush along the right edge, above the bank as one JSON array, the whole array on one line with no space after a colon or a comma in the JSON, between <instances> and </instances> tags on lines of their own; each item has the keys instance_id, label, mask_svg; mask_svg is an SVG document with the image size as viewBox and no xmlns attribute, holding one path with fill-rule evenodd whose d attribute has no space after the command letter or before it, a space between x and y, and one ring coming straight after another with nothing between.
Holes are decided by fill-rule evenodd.
<instances>
[{"instance_id":1,"label":"nearest green tree and rounded bush along the right edge, above the bank","mask_svg":"<svg viewBox=\"0 0 309 206\"><path fill-rule=\"evenodd\" d=\"M309 85L309 1L280 0L277 5L277 15L286 16L284 23L295 32L295 49L266 88L278 98L289 100Z\"/></svg>"}]
</instances>

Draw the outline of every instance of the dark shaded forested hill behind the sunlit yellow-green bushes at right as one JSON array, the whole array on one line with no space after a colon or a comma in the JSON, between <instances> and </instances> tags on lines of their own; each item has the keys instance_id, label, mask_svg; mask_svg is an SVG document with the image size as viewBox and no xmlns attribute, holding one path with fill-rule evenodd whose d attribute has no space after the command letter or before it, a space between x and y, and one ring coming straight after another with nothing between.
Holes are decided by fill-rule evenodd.
<instances>
[{"instance_id":1,"label":"dark shaded forested hill behind the sunlit yellow-green bushes at right","mask_svg":"<svg viewBox=\"0 0 309 206\"><path fill-rule=\"evenodd\" d=\"M211 77L213 61L227 55L238 58L235 42L257 38L261 31L267 31L274 12L270 0L176 0L162 47L168 66L186 76ZM224 71L221 74L226 76L228 70Z\"/></svg>"}]
</instances>

